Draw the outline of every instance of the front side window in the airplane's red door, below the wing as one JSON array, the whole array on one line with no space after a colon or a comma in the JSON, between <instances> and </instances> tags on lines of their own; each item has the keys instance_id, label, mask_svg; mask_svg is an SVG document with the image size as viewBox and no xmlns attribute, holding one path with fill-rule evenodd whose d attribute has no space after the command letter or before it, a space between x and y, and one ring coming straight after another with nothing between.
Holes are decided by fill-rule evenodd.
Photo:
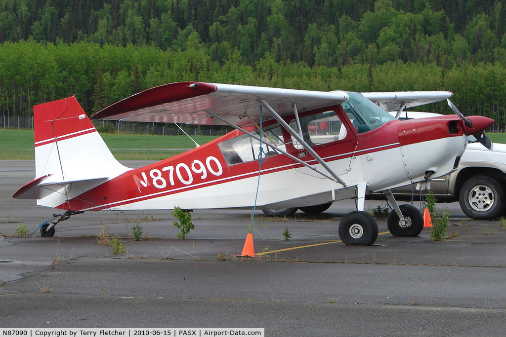
<instances>
[{"instance_id":1,"label":"front side window in the airplane's red door, below the wing","mask_svg":"<svg viewBox=\"0 0 506 337\"><path fill-rule=\"evenodd\" d=\"M311 147L345 139L348 134L346 126L332 110L300 117L300 122L303 139ZM290 121L290 127L300 134L296 119ZM296 139L292 139L292 143L294 148L303 149Z\"/></svg>"}]
</instances>

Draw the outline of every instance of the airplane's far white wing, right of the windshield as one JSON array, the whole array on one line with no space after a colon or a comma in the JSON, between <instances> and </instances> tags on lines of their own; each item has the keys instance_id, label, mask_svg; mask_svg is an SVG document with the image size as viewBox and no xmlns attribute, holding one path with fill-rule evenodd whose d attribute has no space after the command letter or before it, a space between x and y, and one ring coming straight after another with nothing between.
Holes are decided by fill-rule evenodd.
<instances>
[{"instance_id":1,"label":"airplane's far white wing, right of the windshield","mask_svg":"<svg viewBox=\"0 0 506 337\"><path fill-rule=\"evenodd\" d=\"M362 94L387 112L436 103L453 97L450 91L362 92Z\"/></svg>"}]
</instances>

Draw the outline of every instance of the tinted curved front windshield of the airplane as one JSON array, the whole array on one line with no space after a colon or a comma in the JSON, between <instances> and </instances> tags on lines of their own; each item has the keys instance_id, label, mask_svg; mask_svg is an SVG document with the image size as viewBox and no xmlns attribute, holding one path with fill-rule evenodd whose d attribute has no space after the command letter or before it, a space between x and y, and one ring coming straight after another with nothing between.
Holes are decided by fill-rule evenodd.
<instances>
[{"instance_id":1,"label":"tinted curved front windshield of the airplane","mask_svg":"<svg viewBox=\"0 0 506 337\"><path fill-rule=\"evenodd\" d=\"M358 92L347 92L350 99L343 103L343 110L358 133L377 129L395 118Z\"/></svg>"}]
</instances>

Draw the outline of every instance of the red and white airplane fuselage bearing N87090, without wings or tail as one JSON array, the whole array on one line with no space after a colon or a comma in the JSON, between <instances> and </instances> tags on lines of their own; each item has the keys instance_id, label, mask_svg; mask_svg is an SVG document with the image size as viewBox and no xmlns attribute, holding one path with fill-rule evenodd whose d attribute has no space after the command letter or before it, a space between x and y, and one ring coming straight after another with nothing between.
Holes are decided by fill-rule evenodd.
<instances>
[{"instance_id":1,"label":"red and white airplane fuselage bearing N87090, without wings or tail","mask_svg":"<svg viewBox=\"0 0 506 337\"><path fill-rule=\"evenodd\" d=\"M319 135L318 131L311 130L308 139L321 141L313 143L311 148L352 187L327 179L283 154L275 151L269 154L270 148L265 144L267 158L262 162L259 182L260 143L234 130L186 153L128 170L69 201L60 195L58 208L73 211L173 209L176 206L246 208L254 205L255 199L258 206L267 208L319 205L356 197L353 186L360 184L372 192L424 181L429 170L434 171L431 178L445 175L454 169L457 158L466 148L467 136L456 116L414 122L391 120L362 133L358 133L341 105L309 111L301 117L322 112L337 115L346 134L328 132L329 123L317 121L320 128L327 127L327 130L319 130L323 132ZM284 119L290 123L293 118ZM276 129L277 123L270 121L263 127ZM254 125L245 129L258 130ZM286 130L279 128L273 134L279 138L264 136L264 141L321 168ZM72 194L72 186L68 193ZM53 198L50 202L54 205ZM45 205L45 200L39 200L39 205Z\"/></svg>"}]
</instances>

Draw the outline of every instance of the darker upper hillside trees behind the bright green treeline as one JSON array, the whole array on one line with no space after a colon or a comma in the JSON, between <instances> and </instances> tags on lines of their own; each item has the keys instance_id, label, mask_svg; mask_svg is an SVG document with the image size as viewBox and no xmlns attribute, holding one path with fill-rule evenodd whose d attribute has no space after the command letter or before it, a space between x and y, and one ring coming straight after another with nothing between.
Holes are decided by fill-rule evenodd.
<instances>
[{"instance_id":1,"label":"darker upper hillside trees behind the bright green treeline","mask_svg":"<svg viewBox=\"0 0 506 337\"><path fill-rule=\"evenodd\" d=\"M79 41L184 50L212 61L240 51L309 66L493 62L503 56L502 0L0 0L0 42Z\"/></svg>"}]
</instances>

